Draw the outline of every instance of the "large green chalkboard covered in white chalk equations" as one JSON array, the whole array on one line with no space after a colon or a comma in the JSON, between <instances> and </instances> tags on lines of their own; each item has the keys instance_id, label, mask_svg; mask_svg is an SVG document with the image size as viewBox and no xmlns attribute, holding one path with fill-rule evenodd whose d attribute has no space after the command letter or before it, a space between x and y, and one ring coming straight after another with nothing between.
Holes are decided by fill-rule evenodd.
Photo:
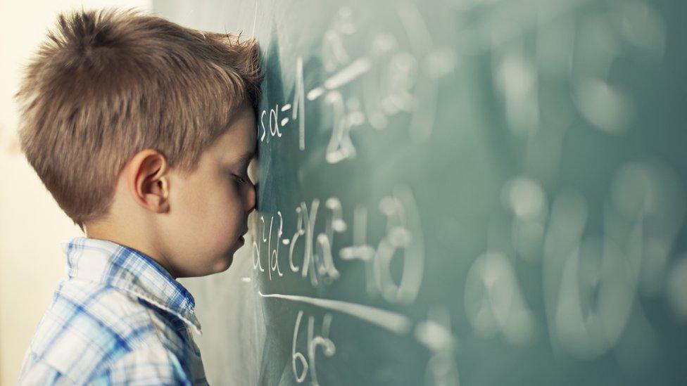
<instances>
[{"instance_id":1,"label":"large green chalkboard covered in white chalk equations","mask_svg":"<svg viewBox=\"0 0 687 386\"><path fill-rule=\"evenodd\" d=\"M687 381L682 1L155 1L255 36L225 385Z\"/></svg>"}]
</instances>

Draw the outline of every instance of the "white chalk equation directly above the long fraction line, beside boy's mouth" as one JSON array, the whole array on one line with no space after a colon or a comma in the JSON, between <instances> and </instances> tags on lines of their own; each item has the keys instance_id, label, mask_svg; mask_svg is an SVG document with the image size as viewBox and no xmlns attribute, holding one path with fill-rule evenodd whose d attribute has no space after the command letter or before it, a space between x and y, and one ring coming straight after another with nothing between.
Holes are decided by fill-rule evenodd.
<instances>
[{"instance_id":1,"label":"white chalk equation directly above the long fraction line, beside boy's mouth","mask_svg":"<svg viewBox=\"0 0 687 386\"><path fill-rule=\"evenodd\" d=\"M353 226L344 221L344 209L338 198L324 201L313 199L294 208L295 224L284 237L284 217L281 210L269 221L260 214L258 235L253 241L253 269L266 273L270 281L284 274L308 279L312 285L330 284L341 276L337 265L357 264L365 276L368 296L382 296L391 303L409 304L417 297L424 269L424 236L420 214L408 187L398 186L393 194L379 200L377 213L384 217L386 232L371 244L367 240L368 209L356 205ZM322 228L316 228L317 217L324 217ZM322 224L322 221L320 221ZM334 238L346 231L353 233L352 245L342 247L334 255ZM301 245L301 252L296 247ZM391 274L393 259L402 260L400 281Z\"/></svg>"}]
</instances>

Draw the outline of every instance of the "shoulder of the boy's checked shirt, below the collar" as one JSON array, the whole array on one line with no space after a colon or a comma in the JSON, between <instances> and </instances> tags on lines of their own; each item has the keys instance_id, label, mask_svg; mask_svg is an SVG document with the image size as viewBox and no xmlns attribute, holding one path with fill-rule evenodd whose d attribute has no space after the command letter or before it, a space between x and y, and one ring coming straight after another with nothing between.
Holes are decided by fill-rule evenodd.
<instances>
[{"instance_id":1,"label":"shoulder of the boy's checked shirt, below the collar","mask_svg":"<svg viewBox=\"0 0 687 386\"><path fill-rule=\"evenodd\" d=\"M99 378L183 384L186 376L170 345L175 333L166 331L169 326L158 311L122 290L61 281L27 351L20 383L65 379L81 384Z\"/></svg>"}]
</instances>

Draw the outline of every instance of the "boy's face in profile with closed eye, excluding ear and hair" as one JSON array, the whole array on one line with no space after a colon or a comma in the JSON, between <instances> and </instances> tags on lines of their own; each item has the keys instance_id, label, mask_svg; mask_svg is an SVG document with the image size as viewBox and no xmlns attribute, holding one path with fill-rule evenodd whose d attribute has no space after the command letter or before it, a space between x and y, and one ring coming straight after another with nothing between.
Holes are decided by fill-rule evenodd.
<instances>
[{"instance_id":1,"label":"boy's face in profile with closed eye, excluding ear and hair","mask_svg":"<svg viewBox=\"0 0 687 386\"><path fill-rule=\"evenodd\" d=\"M227 132L201 155L191 174L170 172L170 210L160 224L163 253L178 277L225 271L244 245L255 186L248 164L256 152L252 108L243 108Z\"/></svg>"}]
</instances>

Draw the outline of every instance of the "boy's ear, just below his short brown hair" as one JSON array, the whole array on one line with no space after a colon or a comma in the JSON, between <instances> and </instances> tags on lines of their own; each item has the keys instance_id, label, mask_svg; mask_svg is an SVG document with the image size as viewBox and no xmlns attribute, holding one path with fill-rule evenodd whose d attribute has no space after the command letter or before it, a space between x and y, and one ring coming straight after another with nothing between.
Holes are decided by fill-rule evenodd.
<instances>
[{"instance_id":1,"label":"boy's ear, just below his short brown hair","mask_svg":"<svg viewBox=\"0 0 687 386\"><path fill-rule=\"evenodd\" d=\"M127 186L141 207L156 213L169 210L169 165L157 150L145 149L127 165Z\"/></svg>"}]
</instances>

